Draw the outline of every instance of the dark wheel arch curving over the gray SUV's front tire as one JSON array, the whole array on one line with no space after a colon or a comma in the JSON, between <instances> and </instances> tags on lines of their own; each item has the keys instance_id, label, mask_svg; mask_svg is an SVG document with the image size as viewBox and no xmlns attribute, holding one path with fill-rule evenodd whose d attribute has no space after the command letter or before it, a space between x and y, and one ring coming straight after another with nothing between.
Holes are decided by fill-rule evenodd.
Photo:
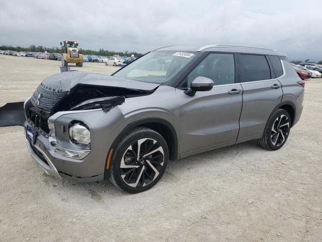
<instances>
[{"instance_id":1,"label":"dark wheel arch curving over the gray SUV's front tire","mask_svg":"<svg viewBox=\"0 0 322 242\"><path fill-rule=\"evenodd\" d=\"M132 131L137 127L149 128L159 133L166 140L168 144L169 159L170 160L178 159L178 154L179 154L178 135L173 125L168 120L163 118L158 118L158 117L143 118L140 120L136 120L135 122L126 126L123 129L123 131L113 141L106 158L104 178L107 178L109 176L109 169L107 168L108 167L107 163L108 163L108 157L110 155L111 150L117 146L117 144L127 133L129 133L130 131Z\"/></svg>"}]
</instances>

